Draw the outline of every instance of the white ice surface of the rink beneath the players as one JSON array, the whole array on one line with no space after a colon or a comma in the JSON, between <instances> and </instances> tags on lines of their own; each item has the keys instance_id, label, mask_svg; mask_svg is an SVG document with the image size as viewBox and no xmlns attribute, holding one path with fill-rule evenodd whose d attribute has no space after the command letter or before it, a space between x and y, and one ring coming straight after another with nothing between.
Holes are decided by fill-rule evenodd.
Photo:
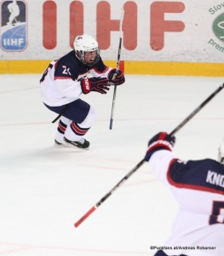
<instances>
[{"instance_id":1,"label":"white ice surface of the rink beneath the players","mask_svg":"<svg viewBox=\"0 0 224 256\"><path fill-rule=\"evenodd\" d=\"M83 224L73 224L143 159L152 136L173 131L223 79L126 75L112 130L113 90L83 96L98 119L86 134L89 151L80 151L54 146L56 114L43 106L39 78L0 76L0 255L153 255L178 206L147 163ZM221 91L175 134L181 159L216 159L223 97Z\"/></svg>"}]
</instances>

